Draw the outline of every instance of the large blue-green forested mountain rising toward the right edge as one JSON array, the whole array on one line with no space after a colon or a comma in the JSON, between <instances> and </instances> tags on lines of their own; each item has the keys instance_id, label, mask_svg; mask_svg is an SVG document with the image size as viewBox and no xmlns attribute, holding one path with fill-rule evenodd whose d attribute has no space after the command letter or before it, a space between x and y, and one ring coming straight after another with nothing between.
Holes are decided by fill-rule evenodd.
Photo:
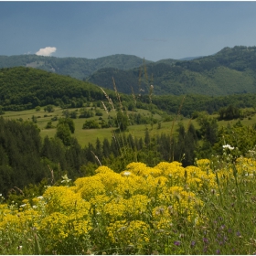
<instances>
[{"instance_id":1,"label":"large blue-green forested mountain rising toward the right edge","mask_svg":"<svg viewBox=\"0 0 256 256\"><path fill-rule=\"evenodd\" d=\"M217 54L187 61L163 60L132 70L100 69L88 78L112 88L114 76L125 93L149 91L156 95L201 94L209 96L256 92L256 47L223 48Z\"/></svg>"}]
</instances>

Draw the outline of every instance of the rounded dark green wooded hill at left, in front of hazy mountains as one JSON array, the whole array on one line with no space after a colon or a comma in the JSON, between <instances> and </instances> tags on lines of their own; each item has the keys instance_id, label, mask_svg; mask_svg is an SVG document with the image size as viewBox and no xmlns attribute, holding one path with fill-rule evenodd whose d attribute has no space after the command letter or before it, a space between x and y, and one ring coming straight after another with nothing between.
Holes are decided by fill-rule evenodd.
<instances>
[{"instance_id":1,"label":"rounded dark green wooded hill at left, in front of hazy mountains","mask_svg":"<svg viewBox=\"0 0 256 256\"><path fill-rule=\"evenodd\" d=\"M48 104L80 107L83 102L103 99L101 89L86 81L40 69L0 69L0 105L5 111L21 111Z\"/></svg>"}]
</instances>

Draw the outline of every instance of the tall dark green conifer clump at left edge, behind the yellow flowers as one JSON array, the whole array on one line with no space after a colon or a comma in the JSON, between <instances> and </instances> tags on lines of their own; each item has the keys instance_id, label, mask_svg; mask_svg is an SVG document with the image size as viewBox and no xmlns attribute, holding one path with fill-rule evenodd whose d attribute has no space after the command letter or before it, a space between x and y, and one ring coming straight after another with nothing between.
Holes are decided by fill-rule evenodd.
<instances>
[{"instance_id":1,"label":"tall dark green conifer clump at left edge, behind the yellow flowers","mask_svg":"<svg viewBox=\"0 0 256 256\"><path fill-rule=\"evenodd\" d=\"M33 123L0 118L0 131L1 193L7 195L10 190L19 194L14 187L23 188L48 176L40 163L39 130Z\"/></svg>"}]
</instances>

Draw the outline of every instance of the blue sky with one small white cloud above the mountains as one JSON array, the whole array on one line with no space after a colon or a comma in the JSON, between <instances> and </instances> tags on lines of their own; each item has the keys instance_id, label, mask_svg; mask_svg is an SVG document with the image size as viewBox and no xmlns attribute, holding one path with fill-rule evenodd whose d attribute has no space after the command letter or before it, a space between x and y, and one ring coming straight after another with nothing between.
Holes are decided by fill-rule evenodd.
<instances>
[{"instance_id":1,"label":"blue sky with one small white cloud above the mountains","mask_svg":"<svg viewBox=\"0 0 256 256\"><path fill-rule=\"evenodd\" d=\"M157 61L256 46L256 2L1 2L0 55Z\"/></svg>"}]
</instances>

